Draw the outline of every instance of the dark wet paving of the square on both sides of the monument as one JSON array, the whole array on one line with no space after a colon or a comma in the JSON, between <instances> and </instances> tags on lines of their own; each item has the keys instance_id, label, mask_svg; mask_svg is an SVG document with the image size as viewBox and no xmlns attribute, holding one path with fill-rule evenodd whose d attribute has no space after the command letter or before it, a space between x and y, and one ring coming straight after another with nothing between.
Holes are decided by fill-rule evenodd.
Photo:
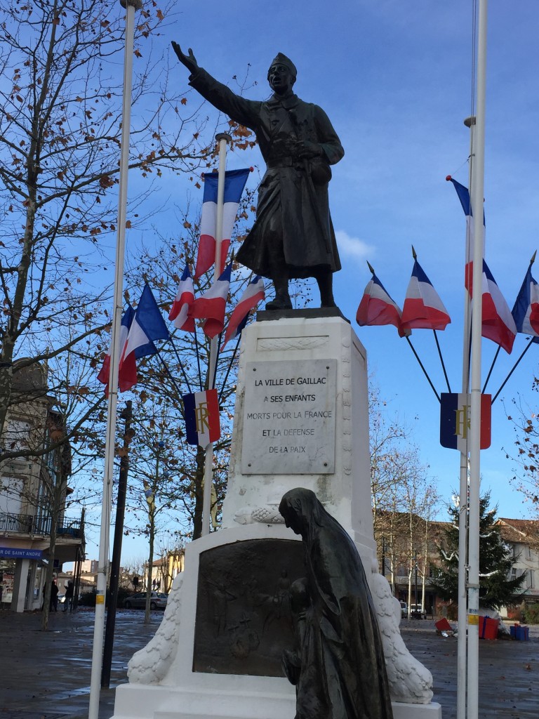
<instances>
[{"instance_id":1,"label":"dark wet paving of the square on both sides of the monument","mask_svg":"<svg viewBox=\"0 0 539 719\"><path fill-rule=\"evenodd\" d=\"M162 612L152 612L144 625L143 611L117 613L111 688L101 690L99 719L113 715L114 690L127 680L127 662L161 618ZM0 612L0 719L88 717L93 622L93 610L59 611L42 632L40 613ZM443 719L456 719L456 638L438 636L432 620L403 620L401 631L408 649L433 673ZM538 674L539 627L530 627L530 641L480 641L479 719L538 719Z\"/></svg>"}]
</instances>

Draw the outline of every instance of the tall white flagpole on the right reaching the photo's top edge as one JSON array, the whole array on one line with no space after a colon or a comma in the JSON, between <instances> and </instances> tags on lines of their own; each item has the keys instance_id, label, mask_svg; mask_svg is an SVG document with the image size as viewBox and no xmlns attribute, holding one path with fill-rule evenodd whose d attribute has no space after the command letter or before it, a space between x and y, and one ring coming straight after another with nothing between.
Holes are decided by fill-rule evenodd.
<instances>
[{"instance_id":1,"label":"tall white flagpole on the right reaching the photo's top edge","mask_svg":"<svg viewBox=\"0 0 539 719\"><path fill-rule=\"evenodd\" d=\"M474 222L474 296L471 301L471 425L468 533L468 719L479 706L479 477L481 435L481 330L483 277L484 129L487 78L487 0L479 0L477 103L472 165L471 211Z\"/></svg>"}]
</instances>

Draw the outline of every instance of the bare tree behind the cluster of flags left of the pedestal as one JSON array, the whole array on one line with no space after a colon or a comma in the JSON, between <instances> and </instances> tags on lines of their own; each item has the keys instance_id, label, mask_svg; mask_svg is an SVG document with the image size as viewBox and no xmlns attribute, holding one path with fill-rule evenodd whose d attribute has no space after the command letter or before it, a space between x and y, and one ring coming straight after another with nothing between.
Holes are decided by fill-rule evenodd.
<instances>
[{"instance_id":1,"label":"bare tree behind the cluster of flags left of the pedestal","mask_svg":"<svg viewBox=\"0 0 539 719\"><path fill-rule=\"evenodd\" d=\"M252 208L252 193L245 193L239 208L239 223L236 232L241 234L244 225L249 221ZM185 263L195 265L196 248L198 245L198 218L182 215L178 223L183 226L183 234L174 241L163 240L157 252L144 249L131 260L128 269L130 298L138 298L142 283L147 281L152 287L158 305L167 313L178 289L178 280L183 273ZM238 242L237 235L233 243ZM234 245L233 245L234 246ZM238 300L249 280L244 268L234 265L234 272L227 303L228 313ZM195 280L195 294L200 296L211 285L211 273ZM153 431L157 417L162 416L166 407L166 422L163 425L160 441L165 450L160 459L160 485L163 485L162 473L167 480L167 493L161 494L167 509L175 506L172 527L175 536L181 541L196 539L202 531L203 478L205 453L198 446L187 444L185 438L185 418L183 415L182 396L189 391L208 388L210 342L199 324L196 336L191 332L173 331L172 342L160 348L160 357L143 359L139 363L139 383L133 388L135 395L134 416L139 421L137 436L141 438L148 431ZM221 408L221 438L213 446L213 500L212 511L215 522L221 513L221 506L226 490L226 477L229 464L232 421L234 418L234 399L237 375L237 341L220 347L216 365L215 386L219 393ZM155 457L155 453L140 450L146 456ZM155 462L155 459L152 460ZM139 464L137 462L137 464ZM153 470L148 470L146 480L151 485ZM140 504L138 504L140 507ZM142 513L142 516L145 512ZM142 523L147 523L144 516Z\"/></svg>"}]
</instances>

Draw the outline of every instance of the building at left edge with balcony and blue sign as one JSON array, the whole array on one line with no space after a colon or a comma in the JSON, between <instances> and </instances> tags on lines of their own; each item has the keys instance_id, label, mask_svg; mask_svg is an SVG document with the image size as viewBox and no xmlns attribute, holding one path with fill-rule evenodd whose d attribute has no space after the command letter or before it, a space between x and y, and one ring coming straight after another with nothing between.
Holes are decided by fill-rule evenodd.
<instances>
[{"instance_id":1,"label":"building at left edge with balcony and blue sign","mask_svg":"<svg viewBox=\"0 0 539 719\"><path fill-rule=\"evenodd\" d=\"M19 367L17 367L19 364ZM65 516L71 452L63 418L47 393L44 367L14 365L13 394L0 431L0 602L16 612L40 609L45 569L84 557L81 518ZM56 535L50 554L51 532Z\"/></svg>"}]
</instances>

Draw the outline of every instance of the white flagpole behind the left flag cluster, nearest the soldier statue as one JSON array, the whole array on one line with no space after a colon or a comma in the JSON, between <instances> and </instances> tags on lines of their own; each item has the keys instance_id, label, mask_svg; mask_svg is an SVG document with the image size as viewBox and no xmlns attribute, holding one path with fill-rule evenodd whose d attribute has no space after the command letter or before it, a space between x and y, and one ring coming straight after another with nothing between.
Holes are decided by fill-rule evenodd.
<instances>
[{"instance_id":1,"label":"white flagpole behind the left flag cluster, nearest the soldier statue","mask_svg":"<svg viewBox=\"0 0 539 719\"><path fill-rule=\"evenodd\" d=\"M226 132L220 132L216 136L219 143L219 168L217 179L217 216L216 216L216 242L215 242L215 266L213 267L213 282L216 282L221 274L221 240L223 239L223 208L224 208L224 185L226 170L226 145L231 142L231 137ZM208 367L208 390L213 388L215 383L217 363L217 337L212 337L210 342L210 362ZM213 474L213 442L206 447L204 458L204 495L202 502L202 536L210 533L211 523L211 481Z\"/></svg>"}]
</instances>

